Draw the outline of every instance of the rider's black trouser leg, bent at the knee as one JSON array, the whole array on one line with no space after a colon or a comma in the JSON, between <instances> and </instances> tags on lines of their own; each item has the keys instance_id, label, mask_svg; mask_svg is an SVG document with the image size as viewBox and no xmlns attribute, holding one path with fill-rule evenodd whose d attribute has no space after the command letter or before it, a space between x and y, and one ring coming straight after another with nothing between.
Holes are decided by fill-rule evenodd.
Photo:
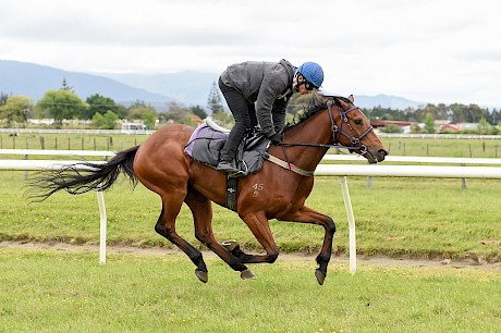
<instances>
[{"instance_id":1,"label":"rider's black trouser leg, bent at the knee","mask_svg":"<svg viewBox=\"0 0 501 333\"><path fill-rule=\"evenodd\" d=\"M241 92L224 85L221 77L219 77L218 84L235 119L235 125L231 128L228 140L220 155L221 161L230 162L235 159L236 149L244 138L247 128L257 125L256 108L254 103L249 103Z\"/></svg>"}]
</instances>

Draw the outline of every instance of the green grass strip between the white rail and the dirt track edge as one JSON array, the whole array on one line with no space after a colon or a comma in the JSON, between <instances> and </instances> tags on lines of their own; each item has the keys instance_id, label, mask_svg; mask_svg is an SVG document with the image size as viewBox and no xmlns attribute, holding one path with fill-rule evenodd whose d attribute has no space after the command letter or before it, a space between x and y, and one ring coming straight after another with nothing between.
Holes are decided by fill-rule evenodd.
<instances>
[{"instance_id":1,"label":"green grass strip between the white rail and the dirt track edge","mask_svg":"<svg viewBox=\"0 0 501 333\"><path fill-rule=\"evenodd\" d=\"M41 203L23 197L23 173L0 173L0 240L97 244L99 211L94 193L58 193ZM357 225L357 250L366 255L413 258L481 258L501 261L499 206L501 182L469 180L350 177ZM155 233L160 200L142 185L133 192L119 182L105 194L109 244L139 247L172 245ZM334 219L334 252L346 254L347 220L339 177L316 177L307 205ZM219 240L237 239L245 248L261 247L236 213L215 207L213 229ZM282 251L317 252L323 230L316 225L270 221ZM199 248L190 210L183 206L176 229Z\"/></svg>"}]
</instances>

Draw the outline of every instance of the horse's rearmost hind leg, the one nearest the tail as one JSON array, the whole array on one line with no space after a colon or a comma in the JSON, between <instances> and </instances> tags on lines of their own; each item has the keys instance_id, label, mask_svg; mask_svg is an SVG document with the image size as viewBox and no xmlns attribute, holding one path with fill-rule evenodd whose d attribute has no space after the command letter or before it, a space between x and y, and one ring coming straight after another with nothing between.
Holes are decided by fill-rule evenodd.
<instances>
[{"instance_id":1,"label":"horse's rearmost hind leg, the one nearest the tail","mask_svg":"<svg viewBox=\"0 0 501 333\"><path fill-rule=\"evenodd\" d=\"M208 271L204 262L201 252L187 243L175 232L175 218L178 217L183 201L170 198L162 198L162 212L158 218L155 231L172 242L182 249L197 267L195 270L196 276L204 283L208 281Z\"/></svg>"}]
</instances>

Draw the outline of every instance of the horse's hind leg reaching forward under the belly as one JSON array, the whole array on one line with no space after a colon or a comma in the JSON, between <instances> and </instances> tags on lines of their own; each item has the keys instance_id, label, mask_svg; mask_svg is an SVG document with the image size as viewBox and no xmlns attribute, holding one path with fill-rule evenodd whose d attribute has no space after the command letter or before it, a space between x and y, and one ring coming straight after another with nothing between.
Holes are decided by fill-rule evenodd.
<instances>
[{"instance_id":1,"label":"horse's hind leg reaching forward under the belly","mask_svg":"<svg viewBox=\"0 0 501 333\"><path fill-rule=\"evenodd\" d=\"M213 236L211 201L194 188L188 188L188 194L184 201L193 213L196 238L224 260L224 262L227 262L233 270L241 272L241 276L243 279L253 278L254 274L247 269L247 267L243 264L233 254L227 251Z\"/></svg>"}]
</instances>

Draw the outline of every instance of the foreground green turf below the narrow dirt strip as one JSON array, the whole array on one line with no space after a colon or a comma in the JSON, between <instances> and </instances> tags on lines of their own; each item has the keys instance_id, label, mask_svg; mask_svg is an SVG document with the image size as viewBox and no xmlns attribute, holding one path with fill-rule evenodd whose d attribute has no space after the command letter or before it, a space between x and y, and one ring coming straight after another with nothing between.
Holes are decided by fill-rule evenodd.
<instances>
[{"instance_id":1,"label":"foreground green turf below the narrow dirt strip","mask_svg":"<svg viewBox=\"0 0 501 333\"><path fill-rule=\"evenodd\" d=\"M343 262L323 286L315 262L252 266L243 281L207 259L200 283L181 255L1 249L2 332L496 332L496 270Z\"/></svg>"}]
</instances>

